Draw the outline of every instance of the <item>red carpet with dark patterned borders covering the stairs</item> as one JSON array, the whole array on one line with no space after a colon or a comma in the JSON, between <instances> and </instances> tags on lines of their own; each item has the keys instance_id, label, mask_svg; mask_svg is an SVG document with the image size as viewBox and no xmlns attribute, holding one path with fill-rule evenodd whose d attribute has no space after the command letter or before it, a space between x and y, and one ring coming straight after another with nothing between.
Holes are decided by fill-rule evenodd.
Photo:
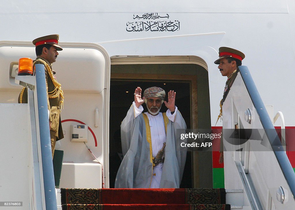
<instances>
[{"instance_id":1,"label":"red carpet with dark patterned borders covering the stairs","mask_svg":"<svg viewBox=\"0 0 295 210\"><path fill-rule=\"evenodd\" d=\"M63 210L229 210L225 189L71 189L62 188Z\"/></svg>"}]
</instances>

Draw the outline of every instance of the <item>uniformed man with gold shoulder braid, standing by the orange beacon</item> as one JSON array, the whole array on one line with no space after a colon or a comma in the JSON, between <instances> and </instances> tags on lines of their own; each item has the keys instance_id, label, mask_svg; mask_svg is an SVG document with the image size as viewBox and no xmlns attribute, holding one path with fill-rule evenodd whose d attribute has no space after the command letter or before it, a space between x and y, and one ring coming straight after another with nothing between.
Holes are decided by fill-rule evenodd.
<instances>
[{"instance_id":1,"label":"uniformed man with gold shoulder braid, standing by the orange beacon","mask_svg":"<svg viewBox=\"0 0 295 210\"><path fill-rule=\"evenodd\" d=\"M52 63L55 62L58 51L63 50L58 46L59 35L47 35L44 37L33 40L33 44L36 46L37 58L33 62L33 69L35 64L43 64L45 66L45 80L46 89L48 93L47 104L49 114L49 126L50 126L50 139L52 157L55 149L55 142L63 138L63 129L61 127L60 111L63 107L63 91L60 83L56 81L52 70ZM23 88L19 94L19 103L27 103L27 88Z\"/></svg>"}]
</instances>

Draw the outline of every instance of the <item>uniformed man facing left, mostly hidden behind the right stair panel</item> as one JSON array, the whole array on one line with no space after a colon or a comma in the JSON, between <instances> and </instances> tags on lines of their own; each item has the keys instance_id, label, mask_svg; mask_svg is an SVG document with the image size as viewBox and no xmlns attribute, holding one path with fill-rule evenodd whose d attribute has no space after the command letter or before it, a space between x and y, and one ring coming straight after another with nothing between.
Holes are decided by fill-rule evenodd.
<instances>
[{"instance_id":1,"label":"uniformed man facing left, mostly hidden behind the right stair panel","mask_svg":"<svg viewBox=\"0 0 295 210\"><path fill-rule=\"evenodd\" d=\"M227 76L227 81L225 83L223 97L220 101L220 114L217 118L217 121L222 116L223 102L230 91L230 87L232 86L232 83L234 82L239 71L238 67L242 65L242 60L244 58L244 53L239 50L230 47L219 47L219 58L215 60L214 63L218 64L221 75ZM223 136L221 137L219 163L223 163Z\"/></svg>"}]
</instances>

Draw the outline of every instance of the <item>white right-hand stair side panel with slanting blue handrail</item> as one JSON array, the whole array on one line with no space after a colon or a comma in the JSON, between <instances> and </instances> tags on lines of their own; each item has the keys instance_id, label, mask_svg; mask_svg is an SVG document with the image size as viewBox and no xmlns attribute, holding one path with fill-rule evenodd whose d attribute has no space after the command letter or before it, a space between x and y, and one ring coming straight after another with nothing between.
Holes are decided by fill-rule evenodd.
<instances>
[{"instance_id":1,"label":"white right-hand stair side panel with slanting blue handrail","mask_svg":"<svg viewBox=\"0 0 295 210\"><path fill-rule=\"evenodd\" d=\"M243 206L251 209L293 209L294 170L248 68L239 70L222 106L225 188L248 190Z\"/></svg>"}]
</instances>

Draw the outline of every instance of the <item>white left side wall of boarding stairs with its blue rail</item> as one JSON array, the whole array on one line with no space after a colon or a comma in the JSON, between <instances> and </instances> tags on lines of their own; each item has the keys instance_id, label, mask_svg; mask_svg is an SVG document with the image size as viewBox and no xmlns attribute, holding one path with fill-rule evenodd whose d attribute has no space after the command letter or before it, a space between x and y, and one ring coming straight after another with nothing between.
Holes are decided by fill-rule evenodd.
<instances>
[{"instance_id":1,"label":"white left side wall of boarding stairs with its blue rail","mask_svg":"<svg viewBox=\"0 0 295 210\"><path fill-rule=\"evenodd\" d=\"M21 203L12 207L0 202L1 210L57 209L45 68L35 67L35 76L15 77L16 83L28 87L28 103L0 104L0 198Z\"/></svg>"}]
</instances>

